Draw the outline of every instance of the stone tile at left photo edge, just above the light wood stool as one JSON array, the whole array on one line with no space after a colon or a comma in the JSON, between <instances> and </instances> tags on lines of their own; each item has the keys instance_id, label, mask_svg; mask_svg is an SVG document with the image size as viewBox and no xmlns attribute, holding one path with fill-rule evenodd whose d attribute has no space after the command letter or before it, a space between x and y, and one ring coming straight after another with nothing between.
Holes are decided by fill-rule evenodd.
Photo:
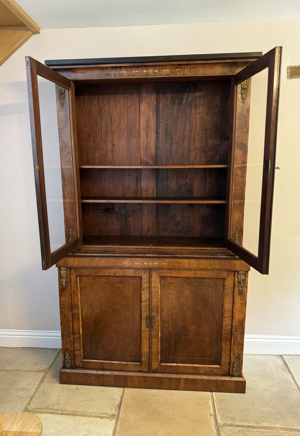
<instances>
[{"instance_id":1,"label":"stone tile at left photo edge, just above the light wood stool","mask_svg":"<svg viewBox=\"0 0 300 436\"><path fill-rule=\"evenodd\" d=\"M0 372L2 413L21 412L40 383L44 373Z\"/></svg>"}]
</instances>

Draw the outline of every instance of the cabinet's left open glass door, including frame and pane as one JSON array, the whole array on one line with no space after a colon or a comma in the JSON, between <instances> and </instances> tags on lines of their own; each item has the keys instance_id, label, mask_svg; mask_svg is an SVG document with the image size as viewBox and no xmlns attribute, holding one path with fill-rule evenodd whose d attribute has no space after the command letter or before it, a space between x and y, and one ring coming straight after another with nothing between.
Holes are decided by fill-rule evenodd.
<instances>
[{"instance_id":1,"label":"cabinet's left open glass door, including frame and pane","mask_svg":"<svg viewBox=\"0 0 300 436\"><path fill-rule=\"evenodd\" d=\"M30 57L26 67L42 266L47 269L80 241L74 84Z\"/></svg>"}]
</instances>

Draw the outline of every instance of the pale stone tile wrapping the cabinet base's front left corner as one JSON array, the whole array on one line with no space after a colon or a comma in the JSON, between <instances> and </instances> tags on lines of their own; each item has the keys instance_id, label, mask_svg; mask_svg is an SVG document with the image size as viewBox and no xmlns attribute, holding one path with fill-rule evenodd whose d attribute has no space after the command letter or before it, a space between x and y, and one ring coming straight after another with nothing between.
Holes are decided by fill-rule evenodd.
<instances>
[{"instance_id":1,"label":"pale stone tile wrapping the cabinet base's front left corner","mask_svg":"<svg viewBox=\"0 0 300 436\"><path fill-rule=\"evenodd\" d=\"M83 413L107 418L115 417L116 406L120 401L122 389L60 385L60 368L61 358L59 357L33 397L29 405L30 410Z\"/></svg>"}]
</instances>

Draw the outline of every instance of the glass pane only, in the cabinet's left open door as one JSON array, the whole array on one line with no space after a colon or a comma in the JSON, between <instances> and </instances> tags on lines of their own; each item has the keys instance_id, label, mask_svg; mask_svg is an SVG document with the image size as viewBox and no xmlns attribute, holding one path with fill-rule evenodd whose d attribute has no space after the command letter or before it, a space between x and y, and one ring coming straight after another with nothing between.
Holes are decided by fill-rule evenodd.
<instances>
[{"instance_id":1,"label":"glass pane only, in the cabinet's left open door","mask_svg":"<svg viewBox=\"0 0 300 436\"><path fill-rule=\"evenodd\" d=\"M61 91L55 83L38 76L51 252L68 242L70 234L77 235L68 90Z\"/></svg>"}]
</instances>

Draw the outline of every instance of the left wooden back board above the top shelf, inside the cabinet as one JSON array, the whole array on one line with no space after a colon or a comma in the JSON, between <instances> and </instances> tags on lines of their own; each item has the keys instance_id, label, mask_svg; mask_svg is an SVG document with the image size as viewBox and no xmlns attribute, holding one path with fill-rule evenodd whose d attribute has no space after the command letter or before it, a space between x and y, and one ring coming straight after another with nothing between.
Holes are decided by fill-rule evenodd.
<instances>
[{"instance_id":1,"label":"left wooden back board above the top shelf, inside the cabinet","mask_svg":"<svg viewBox=\"0 0 300 436\"><path fill-rule=\"evenodd\" d=\"M139 84L81 85L76 89L81 165L139 165Z\"/></svg>"}]
</instances>

